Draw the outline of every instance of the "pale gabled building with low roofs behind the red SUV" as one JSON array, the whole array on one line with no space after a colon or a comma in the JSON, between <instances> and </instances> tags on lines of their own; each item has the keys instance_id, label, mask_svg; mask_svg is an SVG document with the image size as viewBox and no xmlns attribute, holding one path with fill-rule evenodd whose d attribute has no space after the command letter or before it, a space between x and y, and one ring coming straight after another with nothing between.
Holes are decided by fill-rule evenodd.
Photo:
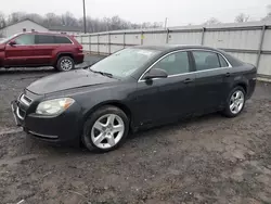
<instances>
[{"instance_id":1,"label":"pale gabled building with low roofs behind the red SUV","mask_svg":"<svg viewBox=\"0 0 271 204\"><path fill-rule=\"evenodd\" d=\"M78 27L70 26L51 26L44 27L31 20L23 20L15 24L8 25L0 29L0 38L8 38L15 34L24 31L40 31L40 33L54 33L54 34L67 34L67 35L80 35L82 29Z\"/></svg>"}]
</instances>

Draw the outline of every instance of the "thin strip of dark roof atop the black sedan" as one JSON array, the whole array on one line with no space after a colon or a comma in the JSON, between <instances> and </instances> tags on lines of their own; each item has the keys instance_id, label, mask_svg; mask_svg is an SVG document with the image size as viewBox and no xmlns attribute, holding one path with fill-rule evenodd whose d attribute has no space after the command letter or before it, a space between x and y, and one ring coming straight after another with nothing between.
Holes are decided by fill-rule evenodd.
<instances>
[{"instance_id":1,"label":"thin strip of dark roof atop the black sedan","mask_svg":"<svg viewBox=\"0 0 271 204\"><path fill-rule=\"evenodd\" d=\"M205 47L205 46L194 46L194 44L159 44L159 46L136 46L138 49L145 50L157 50L157 51L175 51L175 50L183 50L183 49L206 49L206 50L215 50L221 52L221 50Z\"/></svg>"}]
</instances>

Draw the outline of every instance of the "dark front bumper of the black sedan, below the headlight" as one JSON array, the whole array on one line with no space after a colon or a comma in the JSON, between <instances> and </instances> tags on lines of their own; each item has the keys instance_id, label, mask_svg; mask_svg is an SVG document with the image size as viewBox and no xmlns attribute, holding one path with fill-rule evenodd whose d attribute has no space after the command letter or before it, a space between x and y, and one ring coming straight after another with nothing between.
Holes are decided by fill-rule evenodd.
<instances>
[{"instance_id":1,"label":"dark front bumper of the black sedan, below the headlight","mask_svg":"<svg viewBox=\"0 0 271 204\"><path fill-rule=\"evenodd\" d=\"M80 106L76 103L61 115L53 117L27 114L18 101L13 101L11 109L15 124L37 139L53 143L79 143L80 141L82 123Z\"/></svg>"}]
</instances>

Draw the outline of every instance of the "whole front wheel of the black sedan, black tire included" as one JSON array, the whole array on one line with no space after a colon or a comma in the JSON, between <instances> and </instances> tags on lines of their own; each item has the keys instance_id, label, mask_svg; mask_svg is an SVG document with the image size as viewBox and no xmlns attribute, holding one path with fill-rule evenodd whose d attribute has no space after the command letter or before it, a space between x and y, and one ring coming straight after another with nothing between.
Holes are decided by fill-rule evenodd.
<instances>
[{"instance_id":1,"label":"whole front wheel of the black sedan, black tire included","mask_svg":"<svg viewBox=\"0 0 271 204\"><path fill-rule=\"evenodd\" d=\"M90 151L108 152L119 148L129 132L129 118L118 107L95 111L83 127L82 143Z\"/></svg>"}]
</instances>

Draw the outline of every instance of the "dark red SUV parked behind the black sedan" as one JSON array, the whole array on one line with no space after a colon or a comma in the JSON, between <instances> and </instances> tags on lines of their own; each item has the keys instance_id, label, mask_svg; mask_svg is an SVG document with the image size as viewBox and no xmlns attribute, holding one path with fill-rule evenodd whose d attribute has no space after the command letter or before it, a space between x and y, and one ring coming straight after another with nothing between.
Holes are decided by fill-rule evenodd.
<instances>
[{"instance_id":1,"label":"dark red SUV parked behind the black sedan","mask_svg":"<svg viewBox=\"0 0 271 204\"><path fill-rule=\"evenodd\" d=\"M82 46L67 35L24 33L0 41L0 67L53 66L66 72L82 62Z\"/></svg>"}]
</instances>

